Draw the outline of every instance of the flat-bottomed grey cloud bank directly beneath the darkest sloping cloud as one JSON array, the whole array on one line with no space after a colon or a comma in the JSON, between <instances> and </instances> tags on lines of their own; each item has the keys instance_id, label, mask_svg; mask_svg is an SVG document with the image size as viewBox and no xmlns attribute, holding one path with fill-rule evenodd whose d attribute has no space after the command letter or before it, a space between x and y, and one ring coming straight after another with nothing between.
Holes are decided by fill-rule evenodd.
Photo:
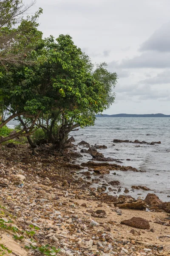
<instances>
[{"instance_id":1,"label":"flat-bottomed grey cloud bank directly beneath the darkest sloping cloud","mask_svg":"<svg viewBox=\"0 0 170 256\"><path fill-rule=\"evenodd\" d=\"M124 59L120 68L166 68L170 67L170 52L143 52L131 59Z\"/></svg>"}]
</instances>

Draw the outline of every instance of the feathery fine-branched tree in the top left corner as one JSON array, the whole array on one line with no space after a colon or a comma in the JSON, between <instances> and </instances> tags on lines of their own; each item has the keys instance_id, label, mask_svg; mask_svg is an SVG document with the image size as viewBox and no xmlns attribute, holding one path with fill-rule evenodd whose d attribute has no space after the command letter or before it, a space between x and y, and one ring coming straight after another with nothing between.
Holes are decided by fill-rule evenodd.
<instances>
[{"instance_id":1,"label":"feathery fine-branched tree in the top left corner","mask_svg":"<svg viewBox=\"0 0 170 256\"><path fill-rule=\"evenodd\" d=\"M38 25L36 20L42 9L32 17L27 16L26 19L23 19L23 15L26 15L34 3L35 1L26 6L22 0L0 1L0 64L6 68L8 63L23 64L27 52L31 49L28 38L25 37L25 45L23 44L23 37L33 26Z\"/></svg>"}]
</instances>

